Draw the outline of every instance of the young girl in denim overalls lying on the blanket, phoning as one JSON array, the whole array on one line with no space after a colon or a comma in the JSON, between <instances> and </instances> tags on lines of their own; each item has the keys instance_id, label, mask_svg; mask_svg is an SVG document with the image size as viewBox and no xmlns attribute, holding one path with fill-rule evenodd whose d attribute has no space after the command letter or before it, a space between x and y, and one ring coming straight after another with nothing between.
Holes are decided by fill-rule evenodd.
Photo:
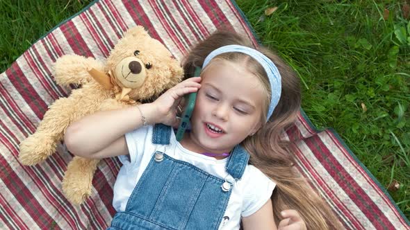
<instances>
[{"instance_id":1,"label":"young girl in denim overalls lying on the blanket, phoning","mask_svg":"<svg viewBox=\"0 0 410 230\"><path fill-rule=\"evenodd\" d=\"M341 228L279 138L300 109L299 80L277 55L251 47L235 33L214 33L184 60L188 79L154 103L98 112L67 128L73 154L119 156L123 164L113 229ZM193 67L202 67L201 77L190 78ZM170 126L192 92L191 129L178 142Z\"/></svg>"}]
</instances>

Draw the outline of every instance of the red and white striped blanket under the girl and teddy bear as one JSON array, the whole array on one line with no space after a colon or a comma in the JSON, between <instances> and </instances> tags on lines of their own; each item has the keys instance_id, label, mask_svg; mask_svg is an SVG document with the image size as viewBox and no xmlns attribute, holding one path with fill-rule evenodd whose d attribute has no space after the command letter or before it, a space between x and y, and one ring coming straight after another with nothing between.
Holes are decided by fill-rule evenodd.
<instances>
[{"instance_id":1,"label":"red and white striped blanket under the girl and teddy bear","mask_svg":"<svg viewBox=\"0 0 410 230\"><path fill-rule=\"evenodd\" d=\"M256 43L252 28L228 0L95 1L39 39L0 76L0 229L105 229L111 205L116 159L101 161L93 193L76 207L61 192L63 172L72 156L58 153L37 166L22 166L18 145L35 132L47 107L71 89L56 85L56 58L76 53L97 59L127 28L142 25L178 60L188 48L221 25ZM346 229L410 229L391 197L361 165L334 130L315 130L303 111L284 138L297 147L297 168L330 204Z\"/></svg>"}]
</instances>

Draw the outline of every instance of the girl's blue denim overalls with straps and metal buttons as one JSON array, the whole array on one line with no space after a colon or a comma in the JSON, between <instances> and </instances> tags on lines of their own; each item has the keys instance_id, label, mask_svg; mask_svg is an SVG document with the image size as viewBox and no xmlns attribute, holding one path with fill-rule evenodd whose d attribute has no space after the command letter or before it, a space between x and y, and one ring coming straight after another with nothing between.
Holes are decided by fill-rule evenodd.
<instances>
[{"instance_id":1,"label":"girl's blue denim overalls with straps and metal buttons","mask_svg":"<svg viewBox=\"0 0 410 230\"><path fill-rule=\"evenodd\" d=\"M154 126L152 143L169 145L172 128ZM233 183L240 179L249 154L237 145L227 161L227 178L215 177L185 161L156 151L126 209L115 214L109 229L218 229Z\"/></svg>"}]
</instances>

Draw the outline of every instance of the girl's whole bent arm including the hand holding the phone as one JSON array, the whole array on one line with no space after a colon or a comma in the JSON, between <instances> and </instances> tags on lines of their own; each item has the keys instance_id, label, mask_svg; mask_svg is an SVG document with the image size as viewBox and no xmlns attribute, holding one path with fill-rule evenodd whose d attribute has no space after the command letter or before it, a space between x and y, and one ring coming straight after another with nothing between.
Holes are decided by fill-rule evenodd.
<instances>
[{"instance_id":1,"label":"girl's whole bent arm including the hand holding the phone","mask_svg":"<svg viewBox=\"0 0 410 230\"><path fill-rule=\"evenodd\" d=\"M80 157L101 159L129 154L124 134L143 125L177 123L177 105L182 96L197 91L201 78L188 78L167 90L154 103L97 112L72 123L65 132L67 149Z\"/></svg>"}]
</instances>

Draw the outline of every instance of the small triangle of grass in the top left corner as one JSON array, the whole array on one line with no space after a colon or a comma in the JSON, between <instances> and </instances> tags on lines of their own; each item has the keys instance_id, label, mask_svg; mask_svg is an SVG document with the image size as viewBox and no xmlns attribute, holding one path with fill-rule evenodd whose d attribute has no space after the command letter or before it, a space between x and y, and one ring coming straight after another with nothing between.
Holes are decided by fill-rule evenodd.
<instances>
[{"instance_id":1,"label":"small triangle of grass in the top left corner","mask_svg":"<svg viewBox=\"0 0 410 230\"><path fill-rule=\"evenodd\" d=\"M0 73L51 28L90 2L0 0Z\"/></svg>"}]
</instances>

